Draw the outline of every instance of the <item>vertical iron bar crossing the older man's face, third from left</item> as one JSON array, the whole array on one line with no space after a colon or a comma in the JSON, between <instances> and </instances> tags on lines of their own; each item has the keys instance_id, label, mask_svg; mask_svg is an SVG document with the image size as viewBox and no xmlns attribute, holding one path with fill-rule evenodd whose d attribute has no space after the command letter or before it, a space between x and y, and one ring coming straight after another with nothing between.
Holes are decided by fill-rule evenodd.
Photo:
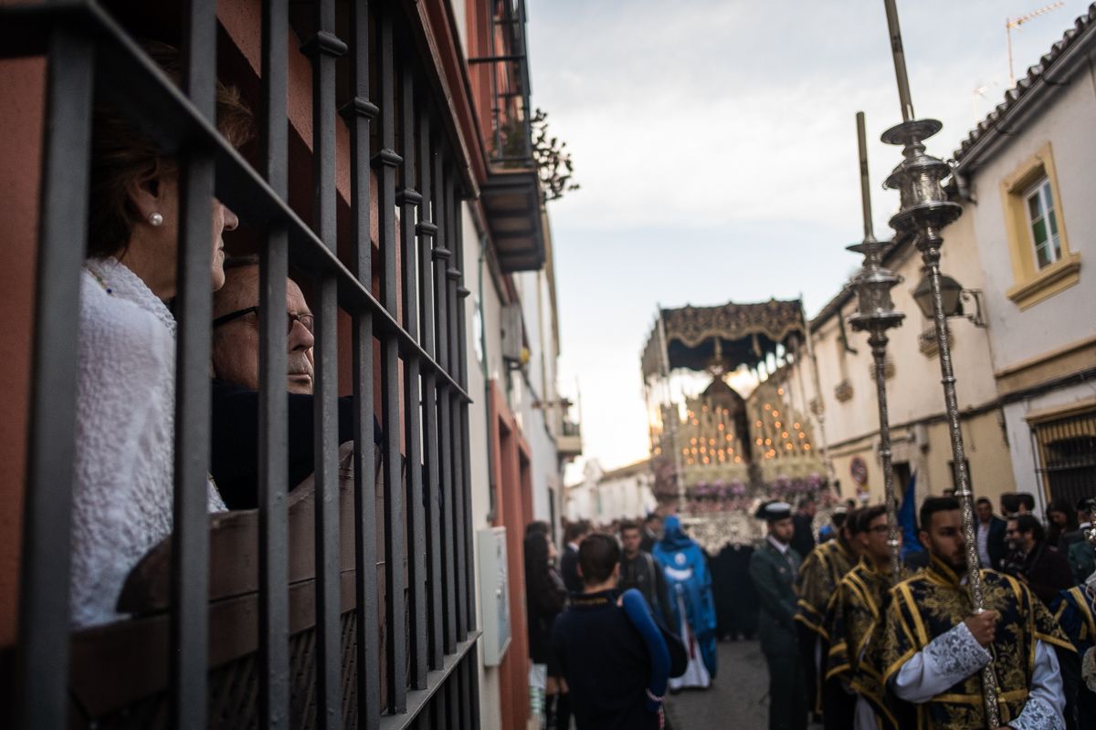
<instances>
[{"instance_id":1,"label":"vertical iron bar crossing the older man's face, third from left","mask_svg":"<svg viewBox=\"0 0 1096 730\"><path fill-rule=\"evenodd\" d=\"M264 0L262 15L262 164L271 189L284 200L288 197L288 5L285 0ZM272 729L287 728L289 722L288 364L282 313L287 256L287 232L272 225L259 264L259 715L260 726Z\"/></svg>"}]
</instances>

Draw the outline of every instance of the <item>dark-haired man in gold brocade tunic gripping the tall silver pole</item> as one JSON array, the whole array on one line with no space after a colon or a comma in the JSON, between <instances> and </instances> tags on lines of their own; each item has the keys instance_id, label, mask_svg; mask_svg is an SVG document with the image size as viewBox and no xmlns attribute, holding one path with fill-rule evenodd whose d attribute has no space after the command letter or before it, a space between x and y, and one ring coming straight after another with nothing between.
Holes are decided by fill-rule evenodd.
<instances>
[{"instance_id":1,"label":"dark-haired man in gold brocade tunic gripping the tall silver pole","mask_svg":"<svg viewBox=\"0 0 1096 730\"><path fill-rule=\"evenodd\" d=\"M1026 586L996 570L979 571L983 610L973 611L959 502L929 497L920 521L929 564L891 592L881 664L887 692L915 705L918 728L986 728L981 671L992 661L998 727L1065 728L1061 662L1076 661L1076 652L1053 616Z\"/></svg>"}]
</instances>

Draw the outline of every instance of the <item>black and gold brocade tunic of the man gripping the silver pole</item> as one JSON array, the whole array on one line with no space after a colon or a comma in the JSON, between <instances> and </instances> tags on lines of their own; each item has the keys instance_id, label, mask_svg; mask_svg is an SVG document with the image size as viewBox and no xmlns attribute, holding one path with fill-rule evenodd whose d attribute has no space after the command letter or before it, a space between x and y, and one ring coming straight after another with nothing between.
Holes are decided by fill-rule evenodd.
<instances>
[{"instance_id":1,"label":"black and gold brocade tunic of the man gripping the silver pole","mask_svg":"<svg viewBox=\"0 0 1096 730\"><path fill-rule=\"evenodd\" d=\"M995 570L982 570L981 576L984 607L998 614L992 652L1001 725L1005 726L1019 716L1027 702L1036 642L1053 647L1059 656L1075 653L1050 611L1026 586ZM955 570L935 556L923 572L894 587L887 611L882 683L895 703L901 700L894 697L890 682L902 665L971 613L970 591ZM974 672L946 693L915 705L915 727L984 728L981 675Z\"/></svg>"}]
</instances>

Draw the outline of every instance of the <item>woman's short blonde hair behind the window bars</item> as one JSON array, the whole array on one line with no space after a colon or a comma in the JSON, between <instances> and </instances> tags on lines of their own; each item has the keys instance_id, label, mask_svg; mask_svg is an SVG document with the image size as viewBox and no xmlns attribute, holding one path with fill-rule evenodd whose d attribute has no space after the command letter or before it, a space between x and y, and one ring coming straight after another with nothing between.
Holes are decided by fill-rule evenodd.
<instances>
[{"instance_id":1,"label":"woman's short blonde hair behind the window bars","mask_svg":"<svg viewBox=\"0 0 1096 730\"><path fill-rule=\"evenodd\" d=\"M159 42L142 44L145 51L180 83L179 50ZM254 117L235 86L217 82L217 129L233 146L242 147L254 136ZM175 170L173 160L113 106L96 103L91 130L91 199L89 200L88 256L111 256L125 251L133 224L140 218L127 187L142 175L162 176Z\"/></svg>"}]
</instances>

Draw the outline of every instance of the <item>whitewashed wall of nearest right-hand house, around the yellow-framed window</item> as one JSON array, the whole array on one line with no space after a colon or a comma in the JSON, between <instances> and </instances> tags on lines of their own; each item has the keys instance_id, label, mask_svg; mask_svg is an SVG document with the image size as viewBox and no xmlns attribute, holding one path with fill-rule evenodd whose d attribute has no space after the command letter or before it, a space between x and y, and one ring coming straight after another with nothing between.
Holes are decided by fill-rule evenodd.
<instances>
[{"instance_id":1,"label":"whitewashed wall of nearest right-hand house, around the yellow-framed window","mask_svg":"<svg viewBox=\"0 0 1096 730\"><path fill-rule=\"evenodd\" d=\"M1089 47L1092 47L1089 43ZM1023 125L1009 124L1006 141L990 154L968 161L970 189L977 200L966 206L975 225L980 265L984 270L993 366L998 389L1005 396L1003 409L1011 445L1011 463L1017 487L1046 495L1038 482L1038 456L1032 449L1027 418L1037 412L1068 407L1096 398L1096 385L1069 384L1032 393L1013 401L1017 382L1009 376L1027 370L1027 384L1052 381L1071 372L1096 367L1096 79L1091 68L1075 71L1070 83L1054 86L1040 100L1040 113ZM1017 281L1009 252L1002 181L1013 176L1027 161L1050 146L1061 208L1057 211L1070 252L1080 254L1076 283L1021 309L1008 297ZM1024 244L1030 243L1024 230ZM1023 246L1021 246L1023 248ZM1029 252L1035 256L1034 248ZM1081 355L1071 348L1082 347ZM1038 372L1034 372L1038 369Z\"/></svg>"}]
</instances>

